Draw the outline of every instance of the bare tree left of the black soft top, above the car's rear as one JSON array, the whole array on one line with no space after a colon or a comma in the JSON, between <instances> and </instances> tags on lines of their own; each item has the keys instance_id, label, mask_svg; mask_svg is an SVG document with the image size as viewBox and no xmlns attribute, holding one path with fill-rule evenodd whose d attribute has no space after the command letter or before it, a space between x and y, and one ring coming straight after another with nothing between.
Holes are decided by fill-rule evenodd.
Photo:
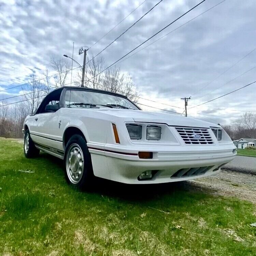
<instances>
[{"instance_id":1,"label":"bare tree left of the black soft top, above the car's rear","mask_svg":"<svg viewBox=\"0 0 256 256\"><path fill-rule=\"evenodd\" d=\"M43 95L42 84L37 81L37 77L33 74L30 82L22 87L24 98L29 105L30 113L33 113L39 106Z\"/></svg>"}]
</instances>

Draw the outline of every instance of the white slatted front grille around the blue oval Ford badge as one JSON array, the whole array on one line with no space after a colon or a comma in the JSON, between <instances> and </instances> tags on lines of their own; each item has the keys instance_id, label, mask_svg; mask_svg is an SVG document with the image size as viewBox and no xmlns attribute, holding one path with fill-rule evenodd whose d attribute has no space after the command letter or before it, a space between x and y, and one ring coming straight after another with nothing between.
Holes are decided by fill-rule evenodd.
<instances>
[{"instance_id":1,"label":"white slatted front grille around the blue oval Ford badge","mask_svg":"<svg viewBox=\"0 0 256 256\"><path fill-rule=\"evenodd\" d=\"M211 134L207 128L175 127L175 129L186 144L213 144ZM199 134L201 138L194 138L194 134Z\"/></svg>"}]
</instances>

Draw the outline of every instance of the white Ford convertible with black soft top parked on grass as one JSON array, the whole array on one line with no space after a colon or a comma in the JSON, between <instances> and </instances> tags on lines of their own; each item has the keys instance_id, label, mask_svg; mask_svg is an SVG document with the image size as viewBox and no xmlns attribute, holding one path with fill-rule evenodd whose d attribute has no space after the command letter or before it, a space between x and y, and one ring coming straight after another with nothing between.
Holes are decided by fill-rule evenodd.
<instances>
[{"instance_id":1,"label":"white Ford convertible with black soft top parked on grass","mask_svg":"<svg viewBox=\"0 0 256 256\"><path fill-rule=\"evenodd\" d=\"M24 122L24 153L40 150L65 162L70 184L92 177L128 184L191 180L218 173L236 155L221 126L142 111L108 91L62 87Z\"/></svg>"}]
</instances>

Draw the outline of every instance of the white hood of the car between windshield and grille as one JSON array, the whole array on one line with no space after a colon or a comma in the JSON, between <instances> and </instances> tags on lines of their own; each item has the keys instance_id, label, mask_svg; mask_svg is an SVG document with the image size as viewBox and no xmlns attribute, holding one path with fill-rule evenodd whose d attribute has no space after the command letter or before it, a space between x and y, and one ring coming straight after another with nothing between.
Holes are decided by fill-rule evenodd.
<instances>
[{"instance_id":1,"label":"white hood of the car between windshield and grille","mask_svg":"<svg viewBox=\"0 0 256 256\"><path fill-rule=\"evenodd\" d=\"M220 127L217 124L205 122L199 119L143 110L129 110L129 109L98 109L105 114L127 119L128 122L134 121L139 123L162 123L171 126L190 126L190 127Z\"/></svg>"}]
</instances>

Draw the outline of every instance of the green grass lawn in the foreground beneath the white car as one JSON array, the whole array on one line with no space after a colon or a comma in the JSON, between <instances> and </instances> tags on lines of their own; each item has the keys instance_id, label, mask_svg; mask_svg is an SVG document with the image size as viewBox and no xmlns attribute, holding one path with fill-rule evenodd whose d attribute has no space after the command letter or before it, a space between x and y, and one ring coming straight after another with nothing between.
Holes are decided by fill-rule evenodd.
<instances>
[{"instance_id":1,"label":"green grass lawn in the foreground beneath the white car","mask_svg":"<svg viewBox=\"0 0 256 256\"><path fill-rule=\"evenodd\" d=\"M256 255L256 205L182 184L67 185L62 161L0 139L0 255Z\"/></svg>"}]
</instances>

